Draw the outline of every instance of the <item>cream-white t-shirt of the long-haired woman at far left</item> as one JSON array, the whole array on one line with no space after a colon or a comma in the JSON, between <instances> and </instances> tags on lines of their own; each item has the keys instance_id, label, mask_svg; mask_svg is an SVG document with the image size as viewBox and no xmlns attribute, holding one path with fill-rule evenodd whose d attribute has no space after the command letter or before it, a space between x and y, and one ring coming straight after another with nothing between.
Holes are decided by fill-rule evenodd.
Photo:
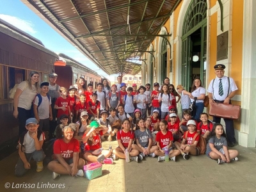
<instances>
[{"instance_id":1,"label":"cream-white t-shirt of the long-haired woman at far left","mask_svg":"<svg viewBox=\"0 0 256 192\"><path fill-rule=\"evenodd\" d=\"M22 81L17 88L22 90L22 93L20 94L19 97L19 103L18 107L19 108L24 108L26 110L31 109L31 105L33 102L33 99L35 99L37 90L35 85L32 85L32 90L29 88L29 83L28 81Z\"/></svg>"}]
</instances>

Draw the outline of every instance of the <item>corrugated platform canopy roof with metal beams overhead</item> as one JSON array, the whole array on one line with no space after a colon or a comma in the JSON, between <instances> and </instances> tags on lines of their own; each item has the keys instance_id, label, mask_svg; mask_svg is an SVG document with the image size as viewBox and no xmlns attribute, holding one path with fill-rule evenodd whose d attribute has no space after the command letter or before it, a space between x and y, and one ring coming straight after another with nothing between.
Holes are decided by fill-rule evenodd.
<instances>
[{"instance_id":1,"label":"corrugated platform canopy roof with metal beams overhead","mask_svg":"<svg viewBox=\"0 0 256 192\"><path fill-rule=\"evenodd\" d=\"M107 74L137 74L180 0L21 0ZM90 66L87 66L90 67Z\"/></svg>"}]
</instances>

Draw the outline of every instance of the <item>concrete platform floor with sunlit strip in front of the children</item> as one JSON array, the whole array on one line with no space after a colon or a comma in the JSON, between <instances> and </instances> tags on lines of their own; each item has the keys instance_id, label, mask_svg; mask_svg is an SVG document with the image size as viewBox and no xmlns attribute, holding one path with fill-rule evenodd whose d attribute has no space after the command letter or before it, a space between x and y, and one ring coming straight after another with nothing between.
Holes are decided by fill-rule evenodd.
<instances>
[{"instance_id":1,"label":"concrete platform floor with sunlit strip in front of the children","mask_svg":"<svg viewBox=\"0 0 256 192\"><path fill-rule=\"evenodd\" d=\"M110 144L117 147L117 141ZM102 146L108 148L109 141L103 141ZM234 148L240 152L239 161L225 164L207 156L192 156L188 161L179 156L176 162L160 163L156 157L140 163L118 159L115 164L103 164L103 175L93 180L68 175L53 180L46 166L43 172L36 172L35 162L24 177L15 177L19 155L14 152L0 161L0 191L256 191L256 148ZM33 188L24 187L28 184Z\"/></svg>"}]
</instances>

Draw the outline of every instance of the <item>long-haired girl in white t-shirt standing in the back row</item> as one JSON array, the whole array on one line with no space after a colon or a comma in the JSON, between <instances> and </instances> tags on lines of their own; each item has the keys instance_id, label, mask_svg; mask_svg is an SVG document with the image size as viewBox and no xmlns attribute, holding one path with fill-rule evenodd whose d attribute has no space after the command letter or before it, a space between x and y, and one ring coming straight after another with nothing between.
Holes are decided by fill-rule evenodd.
<instances>
[{"instance_id":1,"label":"long-haired girl in white t-shirt standing in the back row","mask_svg":"<svg viewBox=\"0 0 256 192\"><path fill-rule=\"evenodd\" d=\"M164 120L168 115L169 106L172 106L172 94L169 93L168 84L163 84L161 93L158 96L158 102L161 103L161 119Z\"/></svg>"}]
</instances>

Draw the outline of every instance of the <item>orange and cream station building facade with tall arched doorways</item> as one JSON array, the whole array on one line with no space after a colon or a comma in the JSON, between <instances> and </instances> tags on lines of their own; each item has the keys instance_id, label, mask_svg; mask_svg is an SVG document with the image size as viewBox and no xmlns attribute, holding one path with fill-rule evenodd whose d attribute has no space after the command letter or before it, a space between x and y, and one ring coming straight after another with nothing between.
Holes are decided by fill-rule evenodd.
<instances>
[{"instance_id":1,"label":"orange and cream station building facade with tall arched doorways","mask_svg":"<svg viewBox=\"0 0 256 192\"><path fill-rule=\"evenodd\" d=\"M236 140L255 147L256 138L256 1L182 0L143 54L142 84L182 84L188 91L195 77L207 89L214 65L223 64L238 90L232 104L241 106L234 120ZM205 108L209 111L209 108ZM225 122L221 122L225 125Z\"/></svg>"}]
</instances>

